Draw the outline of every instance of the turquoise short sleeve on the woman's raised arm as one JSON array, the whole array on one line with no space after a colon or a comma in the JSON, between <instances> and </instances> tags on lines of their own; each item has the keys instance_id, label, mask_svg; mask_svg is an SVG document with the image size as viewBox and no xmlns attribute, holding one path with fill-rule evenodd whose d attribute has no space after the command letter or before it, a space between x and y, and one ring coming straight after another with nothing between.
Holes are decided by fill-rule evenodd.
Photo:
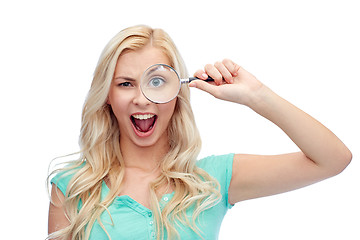
<instances>
[{"instance_id":1,"label":"turquoise short sleeve on the woman's raised arm","mask_svg":"<svg viewBox=\"0 0 360 240\"><path fill-rule=\"evenodd\" d=\"M229 209L233 207L228 201L228 190L232 177L233 160L233 153L218 156L212 155L199 160L196 164L199 168L205 170L210 176L218 180L221 188L221 195L225 200L226 207Z\"/></svg>"}]
</instances>

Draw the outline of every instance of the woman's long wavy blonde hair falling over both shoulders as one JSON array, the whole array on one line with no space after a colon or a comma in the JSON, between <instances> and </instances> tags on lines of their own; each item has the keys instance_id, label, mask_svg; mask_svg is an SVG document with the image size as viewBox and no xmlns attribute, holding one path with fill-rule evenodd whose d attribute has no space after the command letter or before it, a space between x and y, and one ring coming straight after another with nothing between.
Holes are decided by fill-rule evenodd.
<instances>
[{"instance_id":1,"label":"woman's long wavy blonde hair falling over both shoulders","mask_svg":"<svg viewBox=\"0 0 360 240\"><path fill-rule=\"evenodd\" d=\"M80 158L71 166L60 169L75 173L67 186L63 203L70 225L48 238L88 239L95 221L106 232L100 215L107 211L121 191L124 178L118 122L106 100L121 53L135 51L148 44L161 49L180 77L187 77L185 64L176 46L161 29L134 26L124 29L110 40L100 56L84 103L79 139ZM201 236L195 220L202 211L215 205L221 195L218 182L195 165L201 140L190 106L188 86L181 87L168 126L168 137L170 150L161 161L161 175L150 185L150 205L157 226L157 238L162 239L165 232L171 239L176 237L176 221L188 225ZM80 165L82 167L79 168ZM111 188L105 199L101 200L105 180L111 183ZM161 210L156 189L168 184L174 186L174 196ZM79 202L82 205L80 210ZM196 208L190 220L186 216L186 209L193 205Z\"/></svg>"}]
</instances>

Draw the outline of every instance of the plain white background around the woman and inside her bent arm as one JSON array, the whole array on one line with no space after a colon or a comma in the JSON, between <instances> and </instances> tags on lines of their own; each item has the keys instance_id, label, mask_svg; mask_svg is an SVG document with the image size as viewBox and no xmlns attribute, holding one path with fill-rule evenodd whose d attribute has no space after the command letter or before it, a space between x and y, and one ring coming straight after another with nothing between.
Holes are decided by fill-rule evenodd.
<instances>
[{"instance_id":1,"label":"plain white background around the woman and inside her bent arm","mask_svg":"<svg viewBox=\"0 0 360 240\"><path fill-rule=\"evenodd\" d=\"M78 150L81 107L121 29L165 29L192 74L231 58L329 127L353 152L339 176L228 212L220 239L360 239L357 1L5 1L0 3L1 235L44 239L51 159ZM250 109L192 89L201 156L297 151Z\"/></svg>"}]
</instances>

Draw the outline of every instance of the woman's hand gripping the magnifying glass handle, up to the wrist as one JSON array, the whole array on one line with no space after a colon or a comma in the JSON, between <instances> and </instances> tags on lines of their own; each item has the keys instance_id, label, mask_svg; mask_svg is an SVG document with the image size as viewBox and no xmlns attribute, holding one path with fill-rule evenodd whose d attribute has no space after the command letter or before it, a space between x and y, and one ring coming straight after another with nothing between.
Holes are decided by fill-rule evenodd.
<instances>
[{"instance_id":1,"label":"woman's hand gripping the magnifying glass handle, up to the wrist","mask_svg":"<svg viewBox=\"0 0 360 240\"><path fill-rule=\"evenodd\" d=\"M204 70L194 74L201 80L192 81L189 86L206 91L216 98L250 106L257 101L263 84L251 73L229 59L215 64L207 64ZM205 82L208 76L214 82Z\"/></svg>"}]
</instances>

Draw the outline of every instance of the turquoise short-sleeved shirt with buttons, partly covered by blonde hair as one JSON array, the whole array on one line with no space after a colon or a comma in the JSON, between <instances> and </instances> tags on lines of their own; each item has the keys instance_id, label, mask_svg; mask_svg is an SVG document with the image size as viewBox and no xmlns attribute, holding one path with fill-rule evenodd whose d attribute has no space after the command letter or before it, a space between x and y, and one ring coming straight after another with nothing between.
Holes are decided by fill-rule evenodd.
<instances>
[{"instance_id":1,"label":"turquoise short-sleeved shirt with buttons, partly covered by blonde hair","mask_svg":"<svg viewBox=\"0 0 360 240\"><path fill-rule=\"evenodd\" d=\"M221 156L210 156L197 161L197 166L205 170L220 183L221 201L210 209L205 210L199 215L198 228L202 237L206 240L218 239L221 222L232 205L228 202L228 189L232 176L232 163L234 154ZM51 182L57 185L63 194L72 175L61 177L62 173L57 174ZM109 188L103 182L102 198L109 192ZM173 197L174 193L165 194L160 200L160 206ZM108 212L104 211L101 221L104 224L112 240L117 239L156 239L153 213L148 208L139 204L129 196L118 196L108 207L113 224ZM193 207L187 210L187 215L191 216ZM180 239L201 239L190 227L180 224L177 227ZM108 239L101 226L95 222L91 230L91 240ZM166 238L165 238L166 239Z\"/></svg>"}]
</instances>

